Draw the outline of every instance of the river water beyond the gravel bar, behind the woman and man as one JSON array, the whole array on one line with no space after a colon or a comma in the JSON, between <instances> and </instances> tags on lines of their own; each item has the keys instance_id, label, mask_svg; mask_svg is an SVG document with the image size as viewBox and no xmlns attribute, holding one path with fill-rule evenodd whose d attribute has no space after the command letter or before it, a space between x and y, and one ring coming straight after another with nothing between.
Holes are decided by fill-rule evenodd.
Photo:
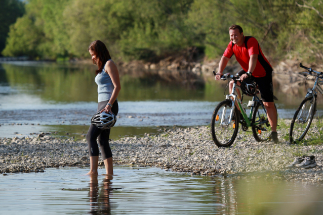
<instances>
[{"instance_id":1,"label":"river water beyond the gravel bar, behind the woman and man","mask_svg":"<svg viewBox=\"0 0 323 215\"><path fill-rule=\"evenodd\" d=\"M60 132L57 136L86 133L97 109L94 70L95 66L77 64L0 64L0 137L55 129ZM130 130L135 136L156 133L158 126L210 124L215 106L225 98L225 87L203 77L176 75L180 74L120 72L123 90L118 96L115 138L129 135ZM303 97L277 96L278 117L292 118ZM250 98L245 97L244 103ZM322 114L319 109L317 115ZM130 127L140 127L140 131Z\"/></svg>"}]
</instances>

